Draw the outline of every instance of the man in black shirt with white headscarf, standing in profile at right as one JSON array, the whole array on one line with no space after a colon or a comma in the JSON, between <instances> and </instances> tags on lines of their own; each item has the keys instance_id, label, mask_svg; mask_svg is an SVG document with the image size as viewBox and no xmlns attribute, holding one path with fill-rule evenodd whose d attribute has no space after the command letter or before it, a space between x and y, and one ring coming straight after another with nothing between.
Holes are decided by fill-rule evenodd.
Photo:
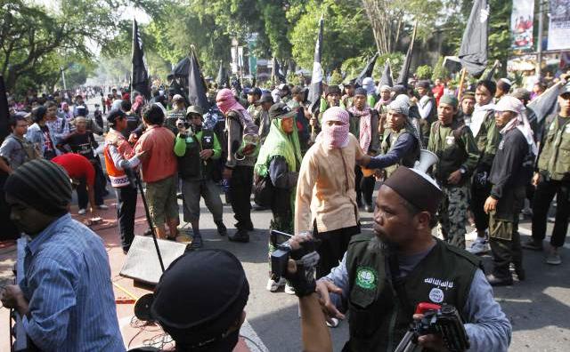
<instances>
[{"instance_id":1,"label":"man in black shirt with white headscarf, standing in profile at right","mask_svg":"<svg viewBox=\"0 0 570 352\"><path fill-rule=\"evenodd\" d=\"M525 105L510 96L503 96L495 106L496 125L502 138L489 175L493 188L485 201L485 212L490 214L489 244L494 263L487 280L492 285L513 283L510 263L514 264L518 279L525 279L518 215L525 204L525 188L533 176L538 148L524 110Z\"/></svg>"}]
</instances>

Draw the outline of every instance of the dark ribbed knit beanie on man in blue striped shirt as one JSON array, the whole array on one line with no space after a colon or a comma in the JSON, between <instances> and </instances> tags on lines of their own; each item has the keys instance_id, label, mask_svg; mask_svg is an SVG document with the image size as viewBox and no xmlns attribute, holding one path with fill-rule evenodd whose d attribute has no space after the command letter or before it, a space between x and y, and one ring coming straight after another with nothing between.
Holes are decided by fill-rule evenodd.
<instances>
[{"instance_id":1,"label":"dark ribbed knit beanie on man in blue striped shirt","mask_svg":"<svg viewBox=\"0 0 570 352\"><path fill-rule=\"evenodd\" d=\"M14 170L4 192L47 215L63 215L71 202L69 175L58 164L34 159Z\"/></svg>"}]
</instances>

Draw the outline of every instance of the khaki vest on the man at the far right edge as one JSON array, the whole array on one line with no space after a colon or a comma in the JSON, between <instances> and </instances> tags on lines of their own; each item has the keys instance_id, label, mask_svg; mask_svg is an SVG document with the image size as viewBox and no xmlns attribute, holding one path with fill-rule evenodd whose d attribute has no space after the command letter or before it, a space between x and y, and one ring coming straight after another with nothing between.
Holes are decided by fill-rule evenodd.
<instances>
[{"instance_id":1,"label":"khaki vest on the man at the far right edge","mask_svg":"<svg viewBox=\"0 0 570 352\"><path fill-rule=\"evenodd\" d=\"M550 123L542 139L538 169L550 180L570 180L570 117L566 124L558 124L558 116Z\"/></svg>"}]
</instances>

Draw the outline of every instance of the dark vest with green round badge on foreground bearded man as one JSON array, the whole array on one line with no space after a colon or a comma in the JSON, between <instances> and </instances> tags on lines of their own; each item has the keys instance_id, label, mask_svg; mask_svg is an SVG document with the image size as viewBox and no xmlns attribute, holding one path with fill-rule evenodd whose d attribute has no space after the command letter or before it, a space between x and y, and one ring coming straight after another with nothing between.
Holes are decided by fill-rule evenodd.
<instances>
[{"instance_id":1,"label":"dark vest with green round badge on foreground bearded man","mask_svg":"<svg viewBox=\"0 0 570 352\"><path fill-rule=\"evenodd\" d=\"M346 252L347 350L393 351L420 302L451 304L463 314L476 269L481 268L476 256L436 239L436 246L408 276L390 280L384 251L368 248L372 236L353 236Z\"/></svg>"}]
</instances>

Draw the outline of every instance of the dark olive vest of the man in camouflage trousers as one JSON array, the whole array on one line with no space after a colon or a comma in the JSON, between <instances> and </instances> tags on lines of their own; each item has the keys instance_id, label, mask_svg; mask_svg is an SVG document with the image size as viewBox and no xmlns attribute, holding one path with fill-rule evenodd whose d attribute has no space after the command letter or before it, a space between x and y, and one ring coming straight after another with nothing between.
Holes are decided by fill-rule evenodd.
<instances>
[{"instance_id":1,"label":"dark olive vest of the man in camouflage trousers","mask_svg":"<svg viewBox=\"0 0 570 352\"><path fill-rule=\"evenodd\" d=\"M435 148L430 151L439 158L434 167L434 176L440 184L446 185L449 175L457 171L468 158L465 144L461 140L467 128L465 124L455 119L450 126L443 126L439 121L431 125L430 138L435 140ZM467 180L467 177L461 178L460 185Z\"/></svg>"}]
</instances>

